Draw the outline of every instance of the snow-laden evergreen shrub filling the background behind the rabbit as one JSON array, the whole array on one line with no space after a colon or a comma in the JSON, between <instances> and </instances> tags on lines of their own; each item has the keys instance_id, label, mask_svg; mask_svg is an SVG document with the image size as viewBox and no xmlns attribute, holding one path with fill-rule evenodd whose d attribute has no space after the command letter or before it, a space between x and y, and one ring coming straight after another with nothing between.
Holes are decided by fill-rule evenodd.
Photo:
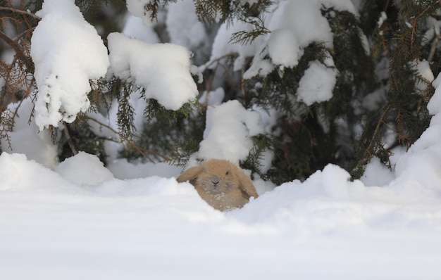
<instances>
[{"instance_id":1,"label":"snow-laden evergreen shrub filling the background behind the rabbit","mask_svg":"<svg viewBox=\"0 0 441 280\"><path fill-rule=\"evenodd\" d=\"M6 1L1 149L46 130L48 166L225 158L275 184L393 168L430 122L440 4L383 2Z\"/></svg>"}]
</instances>

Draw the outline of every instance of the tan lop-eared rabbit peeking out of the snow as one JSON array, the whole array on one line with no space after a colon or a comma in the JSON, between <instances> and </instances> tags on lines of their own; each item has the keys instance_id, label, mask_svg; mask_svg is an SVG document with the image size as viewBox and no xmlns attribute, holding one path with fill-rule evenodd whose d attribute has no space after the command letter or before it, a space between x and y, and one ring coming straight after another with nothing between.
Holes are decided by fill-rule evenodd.
<instances>
[{"instance_id":1,"label":"tan lop-eared rabbit peeking out of the snow","mask_svg":"<svg viewBox=\"0 0 441 280\"><path fill-rule=\"evenodd\" d=\"M182 172L177 180L189 181L204 201L221 211L242 208L251 196L259 196L247 174L228 160L206 160Z\"/></svg>"}]
</instances>

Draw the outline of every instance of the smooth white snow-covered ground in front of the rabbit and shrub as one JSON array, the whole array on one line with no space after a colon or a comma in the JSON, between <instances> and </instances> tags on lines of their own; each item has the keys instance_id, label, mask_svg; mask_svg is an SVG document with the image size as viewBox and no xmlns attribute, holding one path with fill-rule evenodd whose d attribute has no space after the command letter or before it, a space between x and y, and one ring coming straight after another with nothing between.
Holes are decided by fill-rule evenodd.
<instances>
[{"instance_id":1,"label":"smooth white snow-covered ground in front of the rabbit and shrub","mask_svg":"<svg viewBox=\"0 0 441 280\"><path fill-rule=\"evenodd\" d=\"M1 279L441 276L441 180L410 170L365 186L328 165L270 191L256 182L261 196L231 212L173 177L116 179L86 153L55 170L0 155Z\"/></svg>"}]
</instances>

